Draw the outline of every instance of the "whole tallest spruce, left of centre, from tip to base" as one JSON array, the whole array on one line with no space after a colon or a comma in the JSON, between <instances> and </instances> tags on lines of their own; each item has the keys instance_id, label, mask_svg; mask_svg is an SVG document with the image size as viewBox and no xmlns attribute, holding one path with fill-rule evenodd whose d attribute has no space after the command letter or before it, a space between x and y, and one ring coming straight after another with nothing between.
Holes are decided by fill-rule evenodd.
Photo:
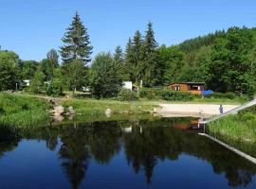
<instances>
[{"instance_id":1,"label":"whole tallest spruce, left of centre, from tip to base","mask_svg":"<svg viewBox=\"0 0 256 189\"><path fill-rule=\"evenodd\" d=\"M87 29L82 25L78 13L73 18L71 26L67 28L62 40L65 43L60 51L64 60L64 71L69 89L73 91L74 95L77 87L81 87L86 80L86 65L91 60L90 55L93 48L89 42Z\"/></svg>"}]
</instances>

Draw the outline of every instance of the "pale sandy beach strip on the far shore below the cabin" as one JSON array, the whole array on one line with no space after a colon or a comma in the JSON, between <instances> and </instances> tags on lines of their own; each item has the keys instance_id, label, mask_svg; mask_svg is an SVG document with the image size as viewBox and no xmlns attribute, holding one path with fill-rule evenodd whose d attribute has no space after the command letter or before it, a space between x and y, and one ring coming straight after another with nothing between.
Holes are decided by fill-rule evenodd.
<instances>
[{"instance_id":1,"label":"pale sandy beach strip on the far shore below the cabin","mask_svg":"<svg viewBox=\"0 0 256 189\"><path fill-rule=\"evenodd\" d=\"M156 112L164 117L177 115L183 116L212 116L220 114L217 104L159 104L160 108ZM223 105L224 112L228 112L239 105Z\"/></svg>"}]
</instances>

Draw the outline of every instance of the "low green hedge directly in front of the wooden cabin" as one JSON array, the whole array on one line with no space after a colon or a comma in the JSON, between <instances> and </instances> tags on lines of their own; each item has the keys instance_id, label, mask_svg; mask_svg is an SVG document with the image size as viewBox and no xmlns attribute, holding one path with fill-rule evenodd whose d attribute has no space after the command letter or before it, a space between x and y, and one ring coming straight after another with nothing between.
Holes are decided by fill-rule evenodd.
<instances>
[{"instance_id":1,"label":"low green hedge directly in front of the wooden cabin","mask_svg":"<svg viewBox=\"0 0 256 189\"><path fill-rule=\"evenodd\" d=\"M165 100L189 101L192 100L193 95L186 92L165 91L162 98Z\"/></svg>"}]
</instances>

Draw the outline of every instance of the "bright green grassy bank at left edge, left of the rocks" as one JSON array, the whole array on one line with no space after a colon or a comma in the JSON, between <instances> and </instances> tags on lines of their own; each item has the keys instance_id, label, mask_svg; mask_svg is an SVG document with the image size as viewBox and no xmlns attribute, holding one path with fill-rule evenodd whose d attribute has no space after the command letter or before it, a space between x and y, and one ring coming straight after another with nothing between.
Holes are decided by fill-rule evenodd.
<instances>
[{"instance_id":1,"label":"bright green grassy bank at left edge, left of the rocks","mask_svg":"<svg viewBox=\"0 0 256 189\"><path fill-rule=\"evenodd\" d=\"M48 123L48 104L37 97L0 94L0 125L31 127Z\"/></svg>"}]
</instances>

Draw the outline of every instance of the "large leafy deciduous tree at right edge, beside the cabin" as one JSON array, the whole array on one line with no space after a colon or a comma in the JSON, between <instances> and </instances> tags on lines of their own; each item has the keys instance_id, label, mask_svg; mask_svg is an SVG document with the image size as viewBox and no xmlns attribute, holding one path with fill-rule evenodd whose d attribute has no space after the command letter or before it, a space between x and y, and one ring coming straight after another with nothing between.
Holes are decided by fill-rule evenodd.
<instances>
[{"instance_id":1,"label":"large leafy deciduous tree at right edge, beside the cabin","mask_svg":"<svg viewBox=\"0 0 256 189\"><path fill-rule=\"evenodd\" d=\"M218 92L251 94L249 51L253 47L252 34L247 28L231 27L227 35L213 45L208 67L207 83Z\"/></svg>"}]
</instances>

